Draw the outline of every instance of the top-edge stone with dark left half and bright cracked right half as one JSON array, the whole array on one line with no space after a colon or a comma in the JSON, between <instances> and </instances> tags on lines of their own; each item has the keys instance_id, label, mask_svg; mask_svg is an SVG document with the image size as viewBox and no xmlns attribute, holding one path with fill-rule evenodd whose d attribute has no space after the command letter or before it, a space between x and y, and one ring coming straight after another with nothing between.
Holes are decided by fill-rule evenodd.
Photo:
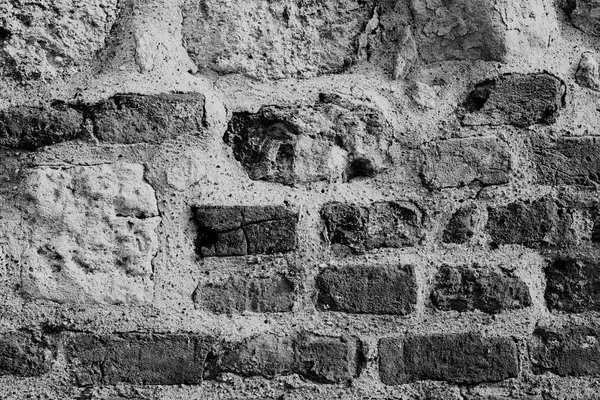
<instances>
[{"instance_id":1,"label":"top-edge stone with dark left half and bright cracked right half","mask_svg":"<svg viewBox=\"0 0 600 400\"><path fill-rule=\"evenodd\" d=\"M419 54L426 62L504 61L545 49L556 22L543 1L412 0Z\"/></svg>"}]
</instances>

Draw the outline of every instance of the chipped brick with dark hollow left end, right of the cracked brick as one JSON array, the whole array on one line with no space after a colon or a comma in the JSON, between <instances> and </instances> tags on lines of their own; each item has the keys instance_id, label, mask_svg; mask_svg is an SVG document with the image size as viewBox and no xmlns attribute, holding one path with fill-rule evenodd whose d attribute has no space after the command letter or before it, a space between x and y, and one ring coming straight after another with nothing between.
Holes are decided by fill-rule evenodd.
<instances>
[{"instance_id":1,"label":"chipped brick with dark hollow left end, right of the cracked brick","mask_svg":"<svg viewBox=\"0 0 600 400\"><path fill-rule=\"evenodd\" d=\"M423 213L409 202L376 202L370 207L330 202L321 208L333 251L414 246L424 237Z\"/></svg>"}]
</instances>

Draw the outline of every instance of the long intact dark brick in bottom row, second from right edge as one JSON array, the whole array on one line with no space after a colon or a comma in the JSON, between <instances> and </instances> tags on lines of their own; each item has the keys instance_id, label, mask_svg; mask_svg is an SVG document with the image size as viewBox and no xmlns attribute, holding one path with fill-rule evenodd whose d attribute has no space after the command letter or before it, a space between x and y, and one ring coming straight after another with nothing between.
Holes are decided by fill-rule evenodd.
<instances>
[{"instance_id":1,"label":"long intact dark brick in bottom row, second from right edge","mask_svg":"<svg viewBox=\"0 0 600 400\"><path fill-rule=\"evenodd\" d=\"M439 334L379 341L379 374L386 385L420 380L459 384L498 382L519 373L517 346L506 337Z\"/></svg>"}]
</instances>

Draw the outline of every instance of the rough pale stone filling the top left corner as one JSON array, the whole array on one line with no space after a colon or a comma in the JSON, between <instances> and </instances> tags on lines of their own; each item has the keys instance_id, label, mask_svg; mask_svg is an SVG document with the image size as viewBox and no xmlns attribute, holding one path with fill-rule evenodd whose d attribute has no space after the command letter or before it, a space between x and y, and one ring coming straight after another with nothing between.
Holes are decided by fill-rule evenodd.
<instances>
[{"instance_id":1,"label":"rough pale stone filling the top left corner","mask_svg":"<svg viewBox=\"0 0 600 400\"><path fill-rule=\"evenodd\" d=\"M51 80L72 75L104 47L117 0L21 0L0 4L0 75Z\"/></svg>"}]
</instances>

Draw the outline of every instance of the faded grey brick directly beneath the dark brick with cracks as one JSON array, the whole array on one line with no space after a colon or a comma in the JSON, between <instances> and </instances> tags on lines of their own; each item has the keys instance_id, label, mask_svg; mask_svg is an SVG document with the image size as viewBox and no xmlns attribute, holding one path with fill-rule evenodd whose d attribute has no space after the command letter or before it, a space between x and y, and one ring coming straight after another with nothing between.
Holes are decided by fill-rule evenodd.
<instances>
[{"instance_id":1,"label":"faded grey brick directly beneath the dark brick with cracks","mask_svg":"<svg viewBox=\"0 0 600 400\"><path fill-rule=\"evenodd\" d=\"M211 312L288 312L294 306L296 284L285 274L251 277L232 275L223 282L200 283L194 302Z\"/></svg>"}]
</instances>

